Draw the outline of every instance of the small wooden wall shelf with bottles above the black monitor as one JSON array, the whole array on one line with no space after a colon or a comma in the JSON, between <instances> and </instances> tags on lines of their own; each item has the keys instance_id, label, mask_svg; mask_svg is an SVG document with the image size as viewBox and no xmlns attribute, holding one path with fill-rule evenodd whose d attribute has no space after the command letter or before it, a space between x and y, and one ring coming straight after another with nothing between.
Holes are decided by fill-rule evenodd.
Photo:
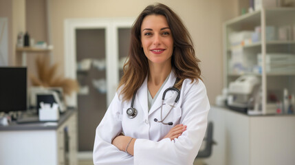
<instances>
[{"instance_id":1,"label":"small wooden wall shelf with bottles above the black monitor","mask_svg":"<svg viewBox=\"0 0 295 165\"><path fill-rule=\"evenodd\" d=\"M17 52L21 53L21 65L27 65L27 53L48 53L52 48L36 48L36 47L17 47Z\"/></svg>"}]
</instances>

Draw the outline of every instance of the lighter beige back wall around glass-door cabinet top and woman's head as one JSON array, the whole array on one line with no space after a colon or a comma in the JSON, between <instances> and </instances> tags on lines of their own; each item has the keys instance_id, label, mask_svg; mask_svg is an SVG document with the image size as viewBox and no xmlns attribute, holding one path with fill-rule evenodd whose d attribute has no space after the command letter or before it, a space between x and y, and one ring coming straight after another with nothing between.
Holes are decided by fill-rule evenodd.
<instances>
[{"instance_id":1,"label":"lighter beige back wall around glass-door cabinet top and woman's head","mask_svg":"<svg viewBox=\"0 0 295 165\"><path fill-rule=\"evenodd\" d=\"M54 61L64 63L64 20L94 17L137 17L155 1L51 0L48 3ZM222 22L237 15L237 0L160 0L184 21L193 41L211 103L223 87ZM63 68L60 68L63 73Z\"/></svg>"}]
</instances>

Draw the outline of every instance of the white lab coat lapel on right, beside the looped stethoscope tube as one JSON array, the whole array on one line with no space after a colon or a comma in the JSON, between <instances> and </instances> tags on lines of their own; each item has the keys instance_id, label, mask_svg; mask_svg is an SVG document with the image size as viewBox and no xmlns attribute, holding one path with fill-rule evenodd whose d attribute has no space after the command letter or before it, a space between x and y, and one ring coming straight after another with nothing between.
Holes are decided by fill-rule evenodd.
<instances>
[{"instance_id":1,"label":"white lab coat lapel on right, beside the looped stethoscope tube","mask_svg":"<svg viewBox=\"0 0 295 165\"><path fill-rule=\"evenodd\" d=\"M149 115L151 115L151 113L153 113L154 111L156 111L157 109L159 109L161 107L162 96L163 96L164 91L169 87L173 87L175 80L176 80L175 74L173 73L173 71L171 71L169 79L167 80L166 84L164 85L164 87L160 91L160 94L157 96L157 99L153 103L153 106L151 107L151 110L149 111ZM168 94L166 94L165 100L170 97L171 96L168 96Z\"/></svg>"}]
</instances>

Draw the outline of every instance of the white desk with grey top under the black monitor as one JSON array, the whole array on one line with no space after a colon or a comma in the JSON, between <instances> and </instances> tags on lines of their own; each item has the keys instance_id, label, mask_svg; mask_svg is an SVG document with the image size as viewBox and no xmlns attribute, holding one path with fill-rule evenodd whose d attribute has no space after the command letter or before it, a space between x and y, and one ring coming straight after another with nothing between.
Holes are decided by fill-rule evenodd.
<instances>
[{"instance_id":1,"label":"white desk with grey top under the black monitor","mask_svg":"<svg viewBox=\"0 0 295 165\"><path fill-rule=\"evenodd\" d=\"M0 164L77 164L76 114L67 110L55 125L0 126Z\"/></svg>"}]
</instances>

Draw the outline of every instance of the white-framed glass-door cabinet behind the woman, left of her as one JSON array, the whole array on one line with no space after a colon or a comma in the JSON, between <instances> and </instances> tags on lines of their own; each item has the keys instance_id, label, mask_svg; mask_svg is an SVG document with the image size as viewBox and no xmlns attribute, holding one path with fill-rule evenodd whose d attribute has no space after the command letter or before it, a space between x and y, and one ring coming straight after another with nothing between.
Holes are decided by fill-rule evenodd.
<instances>
[{"instance_id":1,"label":"white-framed glass-door cabinet behind the woman, left of her","mask_svg":"<svg viewBox=\"0 0 295 165\"><path fill-rule=\"evenodd\" d=\"M70 103L78 108L78 148L92 151L96 126L115 96L135 19L65 21L65 74L80 90Z\"/></svg>"}]
</instances>

